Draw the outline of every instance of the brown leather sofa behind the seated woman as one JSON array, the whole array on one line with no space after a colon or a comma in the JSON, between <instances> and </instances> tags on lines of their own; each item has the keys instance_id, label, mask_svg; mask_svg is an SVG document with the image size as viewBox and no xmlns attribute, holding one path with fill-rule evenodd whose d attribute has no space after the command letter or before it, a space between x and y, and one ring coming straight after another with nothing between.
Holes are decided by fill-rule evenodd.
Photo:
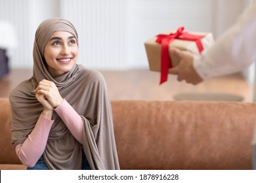
<instances>
[{"instance_id":1,"label":"brown leather sofa behind the seated woman","mask_svg":"<svg viewBox=\"0 0 256 183\"><path fill-rule=\"evenodd\" d=\"M11 145L11 111L0 99L0 169L26 169ZM121 169L251 169L256 104L112 101Z\"/></svg>"}]
</instances>

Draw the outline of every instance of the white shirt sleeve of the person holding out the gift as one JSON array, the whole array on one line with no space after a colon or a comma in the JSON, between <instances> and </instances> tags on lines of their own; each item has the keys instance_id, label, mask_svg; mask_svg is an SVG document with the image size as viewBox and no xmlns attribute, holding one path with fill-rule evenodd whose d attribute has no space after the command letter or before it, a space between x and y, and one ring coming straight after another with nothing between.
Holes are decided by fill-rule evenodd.
<instances>
[{"instance_id":1,"label":"white shirt sleeve of the person holding out the gift","mask_svg":"<svg viewBox=\"0 0 256 183\"><path fill-rule=\"evenodd\" d=\"M251 4L215 44L194 59L204 80L242 71L256 60L256 2Z\"/></svg>"}]
</instances>

